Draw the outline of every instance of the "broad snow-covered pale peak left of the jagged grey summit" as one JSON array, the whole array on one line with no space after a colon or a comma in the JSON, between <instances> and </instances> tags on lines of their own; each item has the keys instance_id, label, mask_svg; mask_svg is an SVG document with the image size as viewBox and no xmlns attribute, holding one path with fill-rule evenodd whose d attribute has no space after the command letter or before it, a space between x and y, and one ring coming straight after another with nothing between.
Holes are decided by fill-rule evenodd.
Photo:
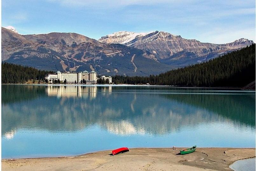
<instances>
[{"instance_id":1,"label":"broad snow-covered pale peak left of the jagged grey summit","mask_svg":"<svg viewBox=\"0 0 256 171\"><path fill-rule=\"evenodd\" d=\"M115 32L110 35L102 36L101 39L99 39L99 41L103 42L103 43L125 44L129 41L134 40L136 37L145 36L147 34L149 34L149 33L135 33L135 32L129 32L129 31L119 31L119 32Z\"/></svg>"}]
</instances>

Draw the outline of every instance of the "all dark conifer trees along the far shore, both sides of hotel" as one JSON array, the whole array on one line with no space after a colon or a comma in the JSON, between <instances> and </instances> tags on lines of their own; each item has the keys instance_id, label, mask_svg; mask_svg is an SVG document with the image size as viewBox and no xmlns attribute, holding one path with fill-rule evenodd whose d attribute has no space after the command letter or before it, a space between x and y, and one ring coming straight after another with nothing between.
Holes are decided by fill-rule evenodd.
<instances>
[{"instance_id":1,"label":"all dark conifer trees along the far shore, both sides of hotel","mask_svg":"<svg viewBox=\"0 0 256 171\"><path fill-rule=\"evenodd\" d=\"M43 80L52 71L2 62L2 83L25 83ZM115 84L147 84L174 86L243 87L255 80L255 44L233 51L204 63L174 69L159 75L112 77ZM59 81L57 81L59 82ZM85 80L81 80L85 84ZM98 79L98 84L109 81Z\"/></svg>"}]
</instances>

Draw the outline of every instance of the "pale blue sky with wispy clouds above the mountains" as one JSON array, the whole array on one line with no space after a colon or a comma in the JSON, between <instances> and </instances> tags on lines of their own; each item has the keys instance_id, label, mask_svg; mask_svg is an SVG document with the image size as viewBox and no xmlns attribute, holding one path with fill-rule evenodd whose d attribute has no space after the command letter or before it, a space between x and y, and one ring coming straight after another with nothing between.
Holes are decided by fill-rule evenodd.
<instances>
[{"instance_id":1,"label":"pale blue sky with wispy clouds above the mountains","mask_svg":"<svg viewBox=\"0 0 256 171\"><path fill-rule=\"evenodd\" d=\"M166 31L186 39L255 42L255 0L2 0L2 26L20 34Z\"/></svg>"}]
</instances>

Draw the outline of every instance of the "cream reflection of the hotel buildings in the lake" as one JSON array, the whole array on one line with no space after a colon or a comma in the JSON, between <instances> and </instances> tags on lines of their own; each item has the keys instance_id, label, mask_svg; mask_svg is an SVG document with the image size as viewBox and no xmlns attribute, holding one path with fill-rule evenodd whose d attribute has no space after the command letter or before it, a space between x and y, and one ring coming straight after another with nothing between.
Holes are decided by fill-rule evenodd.
<instances>
[{"instance_id":1,"label":"cream reflection of the hotel buildings in the lake","mask_svg":"<svg viewBox=\"0 0 256 171\"><path fill-rule=\"evenodd\" d=\"M46 93L48 96L61 97L90 97L90 99L96 98L98 89L105 94L112 92L112 86L97 87L97 86L54 86L48 85Z\"/></svg>"}]
</instances>

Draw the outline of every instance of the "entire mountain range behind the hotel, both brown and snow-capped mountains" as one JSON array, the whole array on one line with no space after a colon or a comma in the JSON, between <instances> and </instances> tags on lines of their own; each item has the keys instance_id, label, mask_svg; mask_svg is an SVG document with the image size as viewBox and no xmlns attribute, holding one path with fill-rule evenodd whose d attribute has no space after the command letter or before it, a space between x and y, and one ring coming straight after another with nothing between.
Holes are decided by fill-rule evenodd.
<instances>
[{"instance_id":1,"label":"entire mountain range behind the hotel, both brown and snow-capped mountains","mask_svg":"<svg viewBox=\"0 0 256 171\"><path fill-rule=\"evenodd\" d=\"M226 44L202 43L163 31L121 31L95 40L76 33L20 35L2 27L2 61L52 71L146 76L207 61L252 43L244 38Z\"/></svg>"}]
</instances>

